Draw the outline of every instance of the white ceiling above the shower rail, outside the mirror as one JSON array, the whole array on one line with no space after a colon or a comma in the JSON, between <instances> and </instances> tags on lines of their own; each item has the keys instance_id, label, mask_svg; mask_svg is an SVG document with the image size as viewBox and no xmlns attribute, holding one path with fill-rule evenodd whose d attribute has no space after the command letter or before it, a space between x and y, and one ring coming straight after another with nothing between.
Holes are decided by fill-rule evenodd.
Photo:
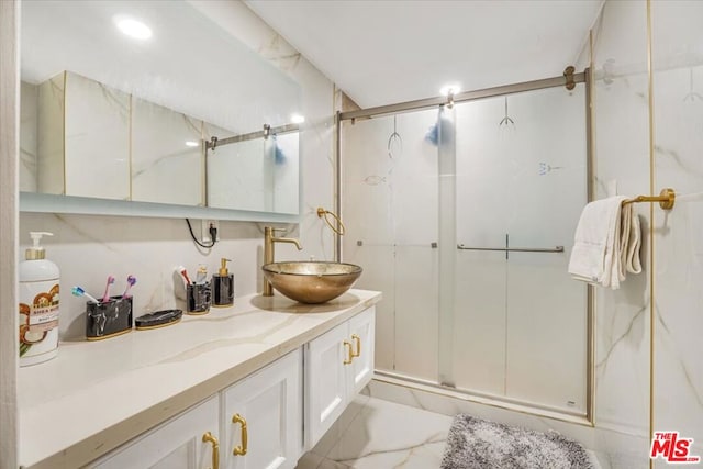
<instances>
[{"instance_id":1,"label":"white ceiling above the shower rail, outside the mirror","mask_svg":"<svg viewBox=\"0 0 703 469\"><path fill-rule=\"evenodd\" d=\"M603 0L245 0L362 108L561 75Z\"/></svg>"}]
</instances>

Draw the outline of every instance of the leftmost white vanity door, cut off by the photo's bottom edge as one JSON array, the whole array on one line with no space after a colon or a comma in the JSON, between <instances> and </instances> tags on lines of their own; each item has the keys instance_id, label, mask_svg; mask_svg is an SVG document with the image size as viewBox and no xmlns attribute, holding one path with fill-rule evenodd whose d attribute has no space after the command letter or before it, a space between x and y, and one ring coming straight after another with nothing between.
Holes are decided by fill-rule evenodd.
<instances>
[{"instance_id":1,"label":"leftmost white vanity door, cut off by the photo's bottom edge","mask_svg":"<svg viewBox=\"0 0 703 469\"><path fill-rule=\"evenodd\" d=\"M214 395L89 465L98 469L215 468L220 399Z\"/></svg>"}]
</instances>

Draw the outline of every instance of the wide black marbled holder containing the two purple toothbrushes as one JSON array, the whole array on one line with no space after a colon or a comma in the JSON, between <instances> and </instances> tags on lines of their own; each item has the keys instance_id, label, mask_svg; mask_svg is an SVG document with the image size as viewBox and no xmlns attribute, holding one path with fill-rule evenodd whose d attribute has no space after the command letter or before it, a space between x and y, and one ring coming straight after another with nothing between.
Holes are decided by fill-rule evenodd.
<instances>
[{"instance_id":1,"label":"wide black marbled holder containing the two purple toothbrushes","mask_svg":"<svg viewBox=\"0 0 703 469\"><path fill-rule=\"evenodd\" d=\"M132 297L86 303L86 338L101 340L132 331Z\"/></svg>"}]
</instances>

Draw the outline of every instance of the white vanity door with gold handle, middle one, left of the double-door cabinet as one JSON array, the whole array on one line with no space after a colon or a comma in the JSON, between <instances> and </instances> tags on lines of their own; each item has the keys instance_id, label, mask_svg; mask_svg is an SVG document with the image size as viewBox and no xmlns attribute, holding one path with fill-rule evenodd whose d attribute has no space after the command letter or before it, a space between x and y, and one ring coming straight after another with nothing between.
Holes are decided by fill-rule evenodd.
<instances>
[{"instance_id":1,"label":"white vanity door with gold handle, middle one, left of the double-door cabinet","mask_svg":"<svg viewBox=\"0 0 703 469\"><path fill-rule=\"evenodd\" d=\"M302 455L302 405L300 349L223 391L223 467L294 468Z\"/></svg>"}]
</instances>

